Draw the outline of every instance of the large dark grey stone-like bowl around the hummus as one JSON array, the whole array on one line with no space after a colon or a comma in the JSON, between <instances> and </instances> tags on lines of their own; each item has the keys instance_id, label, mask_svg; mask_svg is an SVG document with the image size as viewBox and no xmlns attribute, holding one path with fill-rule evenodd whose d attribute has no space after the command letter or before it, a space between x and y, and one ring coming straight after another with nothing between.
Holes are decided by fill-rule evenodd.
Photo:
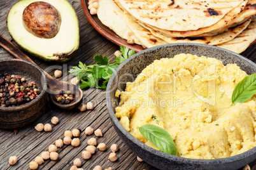
<instances>
[{"instance_id":1,"label":"large dark grey stone-like bowl around the hummus","mask_svg":"<svg viewBox=\"0 0 256 170\"><path fill-rule=\"evenodd\" d=\"M118 135L124 141L134 154L138 155L148 164L159 169L239 169L256 159L256 147L244 152L243 154L227 157L223 159L187 159L174 155L169 155L159 150L146 146L139 140L136 140L115 117L115 107L117 107L119 98L115 97L115 91L119 89L124 91L125 83L134 81L136 75L147 65L160 58L172 58L180 53L190 53L197 56L208 56L221 60L224 65L227 63L236 63L245 70L247 74L256 72L256 64L247 58L233 53L232 51L208 46L204 44L178 43L166 44L145 49L131 58L125 60L111 76L106 91L106 104L112 124ZM128 74L133 75L128 76Z\"/></svg>"}]
</instances>

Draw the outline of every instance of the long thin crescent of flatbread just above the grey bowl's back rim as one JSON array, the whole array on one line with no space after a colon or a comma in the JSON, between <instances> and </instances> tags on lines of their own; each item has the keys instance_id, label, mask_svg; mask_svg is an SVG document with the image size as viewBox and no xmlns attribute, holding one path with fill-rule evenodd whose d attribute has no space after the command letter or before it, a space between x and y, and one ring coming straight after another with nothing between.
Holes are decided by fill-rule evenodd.
<instances>
[{"instance_id":1,"label":"long thin crescent of flatbread just above the grey bowl's back rim","mask_svg":"<svg viewBox=\"0 0 256 170\"><path fill-rule=\"evenodd\" d=\"M231 41L232 39L234 39L234 37L238 36L243 30L246 29L246 27L248 27L250 22L251 22L251 18L248 19L246 22L242 23L241 25L228 29L226 32L223 32L216 36L206 36L206 37L205 36L203 37L166 37L162 34L159 34L159 32L156 32L155 30L152 30L148 27L146 27L146 29L150 30L150 32L154 36L164 39L164 41L168 43L195 42L195 43L201 43L201 44L216 45L216 44L222 44L224 42Z\"/></svg>"}]
</instances>

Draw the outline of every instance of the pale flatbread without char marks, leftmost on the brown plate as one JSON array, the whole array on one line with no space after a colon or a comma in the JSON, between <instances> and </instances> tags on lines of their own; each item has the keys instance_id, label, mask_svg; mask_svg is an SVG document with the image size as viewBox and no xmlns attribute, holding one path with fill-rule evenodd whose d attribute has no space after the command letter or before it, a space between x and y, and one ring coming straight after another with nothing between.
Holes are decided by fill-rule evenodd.
<instances>
[{"instance_id":1,"label":"pale flatbread without char marks, leftmost on the brown plate","mask_svg":"<svg viewBox=\"0 0 256 170\"><path fill-rule=\"evenodd\" d=\"M112 0L99 0L99 8L97 9L99 20L113 30L123 39L134 39L136 44L141 45L127 23L124 21L124 13Z\"/></svg>"}]
</instances>

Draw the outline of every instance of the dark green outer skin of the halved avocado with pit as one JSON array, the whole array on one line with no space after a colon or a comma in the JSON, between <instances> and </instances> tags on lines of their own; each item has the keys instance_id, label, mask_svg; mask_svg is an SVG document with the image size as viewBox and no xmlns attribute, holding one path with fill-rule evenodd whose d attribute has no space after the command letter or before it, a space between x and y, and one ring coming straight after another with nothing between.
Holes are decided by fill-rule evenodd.
<instances>
[{"instance_id":1,"label":"dark green outer skin of the halved avocado with pit","mask_svg":"<svg viewBox=\"0 0 256 170\"><path fill-rule=\"evenodd\" d=\"M22 0L20 0L20 1L22 1ZM17 3L19 3L20 1L18 1ZM17 4L17 3L15 3L15 4ZM13 6L14 6L15 4L13 4ZM12 7L11 7L11 8L12 8ZM11 10L11 8L10 8L10 10ZM9 15L9 13L10 13L10 10L8 11L6 18L8 18L8 15ZM76 19L78 20L78 17L77 17L77 16L76 16ZM8 20L6 20L6 27L7 27L7 29L8 29ZM11 36L11 39L13 39L13 36L11 35L9 29L8 29L8 33L9 33L9 35ZM78 34L78 40L79 40L79 39L80 39L80 35ZM15 39L13 39L13 41L15 41ZM75 58L76 58L76 55L77 55L77 53L78 53L79 45L80 45L80 43L79 43L79 41L78 41L78 47L77 47L74 51L72 51L72 53L70 53L69 55L67 55L67 56L66 56L65 58L63 58L63 59L62 59L62 58L59 58L59 59L50 59L50 58L45 58L44 56L38 55L38 54L36 54L36 53L34 53L34 52L32 52L32 51L29 51L29 49L23 48L22 45L20 45L17 41L15 41L15 43L20 47L20 49L22 49L23 51L29 53L30 55L36 56L37 58L39 58L39 59L41 59L41 60L43 60L43 61L45 61L45 62L53 62L53 63L67 63L67 62L69 62L69 61L75 59Z\"/></svg>"}]
</instances>

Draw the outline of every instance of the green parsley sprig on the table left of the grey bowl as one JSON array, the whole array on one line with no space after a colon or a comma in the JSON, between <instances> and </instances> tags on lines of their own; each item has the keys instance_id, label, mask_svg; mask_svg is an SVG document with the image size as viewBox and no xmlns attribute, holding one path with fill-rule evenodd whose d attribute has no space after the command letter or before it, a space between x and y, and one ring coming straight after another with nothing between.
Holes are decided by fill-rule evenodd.
<instances>
[{"instance_id":1,"label":"green parsley sprig on the table left of the grey bowl","mask_svg":"<svg viewBox=\"0 0 256 170\"><path fill-rule=\"evenodd\" d=\"M79 62L78 66L74 66L69 72L73 75L78 75L78 80L81 80L80 88L98 88L106 89L111 75L117 69L118 64L124 62L127 58L135 54L134 49L130 50L125 46L120 46L121 54L115 58L115 62L108 63L108 57L102 55L94 56L96 65L85 65Z\"/></svg>"}]
</instances>

